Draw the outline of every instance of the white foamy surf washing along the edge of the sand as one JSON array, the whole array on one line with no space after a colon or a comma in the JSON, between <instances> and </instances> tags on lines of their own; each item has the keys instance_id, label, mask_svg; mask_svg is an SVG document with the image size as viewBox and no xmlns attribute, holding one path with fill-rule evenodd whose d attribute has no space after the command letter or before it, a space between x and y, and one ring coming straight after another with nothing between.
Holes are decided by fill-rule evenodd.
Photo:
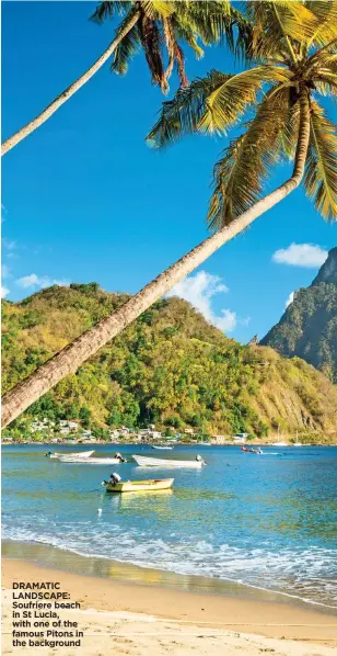
<instances>
[{"instance_id":1,"label":"white foamy surf washing along the edge of the sand","mask_svg":"<svg viewBox=\"0 0 337 656\"><path fill-rule=\"evenodd\" d=\"M39 525L36 527L36 523ZM50 525L50 521L44 518L34 521L34 528L32 522L26 527L3 522L2 536L50 545L84 557L217 578L337 609L335 550L312 546L301 551L283 547L276 552L268 543L257 548L230 544L219 546L206 540L193 542L193 536L188 538L188 542L176 541L174 533L168 542L153 539L147 531L135 529L126 533L118 524L107 528L98 518L95 524L78 521L75 525L65 523L61 528L56 522Z\"/></svg>"}]
</instances>

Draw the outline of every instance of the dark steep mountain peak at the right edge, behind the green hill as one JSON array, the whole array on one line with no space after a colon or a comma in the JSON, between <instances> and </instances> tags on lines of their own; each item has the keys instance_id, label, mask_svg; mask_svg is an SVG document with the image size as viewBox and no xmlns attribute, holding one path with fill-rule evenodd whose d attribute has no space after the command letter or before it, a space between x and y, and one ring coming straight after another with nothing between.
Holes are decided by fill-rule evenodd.
<instances>
[{"instance_id":1,"label":"dark steep mountain peak at the right edge, behind the green hill","mask_svg":"<svg viewBox=\"0 0 337 656\"><path fill-rule=\"evenodd\" d=\"M286 358L303 358L337 382L337 248L260 343Z\"/></svg>"}]
</instances>

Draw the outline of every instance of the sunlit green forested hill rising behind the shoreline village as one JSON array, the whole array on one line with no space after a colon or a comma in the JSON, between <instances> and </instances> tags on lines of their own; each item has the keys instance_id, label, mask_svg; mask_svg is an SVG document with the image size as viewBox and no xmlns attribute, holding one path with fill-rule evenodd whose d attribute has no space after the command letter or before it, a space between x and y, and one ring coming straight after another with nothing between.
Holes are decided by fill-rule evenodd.
<instances>
[{"instance_id":1,"label":"sunlit green forested hill rising behind the shoreline village","mask_svg":"<svg viewBox=\"0 0 337 656\"><path fill-rule=\"evenodd\" d=\"M126 301L95 283L3 302L3 388ZM300 359L242 347L188 303L163 299L34 404L26 416L83 426L194 427L210 434L284 431L337 440L337 388Z\"/></svg>"}]
</instances>

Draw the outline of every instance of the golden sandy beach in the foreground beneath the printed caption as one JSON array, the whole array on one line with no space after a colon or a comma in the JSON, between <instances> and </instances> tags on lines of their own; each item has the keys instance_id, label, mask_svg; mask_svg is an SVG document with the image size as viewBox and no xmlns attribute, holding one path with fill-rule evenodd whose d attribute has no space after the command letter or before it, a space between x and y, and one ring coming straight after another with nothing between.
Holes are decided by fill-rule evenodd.
<instances>
[{"instance_id":1,"label":"golden sandy beach in the foreground beneath the printed caption","mask_svg":"<svg viewBox=\"0 0 337 656\"><path fill-rule=\"evenodd\" d=\"M59 611L59 617L79 623L85 656L103 656L112 648L130 656L324 656L337 644L336 617L310 608L123 584L3 558L2 654L22 651L12 646L11 635L18 581L59 581L71 602L80 602L80 610ZM72 656L77 649L39 647L38 653Z\"/></svg>"}]
</instances>

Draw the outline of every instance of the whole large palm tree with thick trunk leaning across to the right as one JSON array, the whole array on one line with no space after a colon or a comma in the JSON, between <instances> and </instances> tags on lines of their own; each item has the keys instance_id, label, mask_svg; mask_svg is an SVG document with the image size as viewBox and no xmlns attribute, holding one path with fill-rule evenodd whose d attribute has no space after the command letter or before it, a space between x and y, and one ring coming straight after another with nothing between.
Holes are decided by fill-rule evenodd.
<instances>
[{"instance_id":1,"label":"whole large palm tree with thick trunk leaning across to the right","mask_svg":"<svg viewBox=\"0 0 337 656\"><path fill-rule=\"evenodd\" d=\"M319 104L321 95L337 91L337 3L255 0L247 11L258 65L235 76L211 71L181 89L148 137L165 146L187 133L222 134L254 111L216 165L208 214L213 233L10 391L4 426L302 181L317 211L337 218L337 137ZM271 167L284 158L294 162L290 178L262 196Z\"/></svg>"}]
</instances>

